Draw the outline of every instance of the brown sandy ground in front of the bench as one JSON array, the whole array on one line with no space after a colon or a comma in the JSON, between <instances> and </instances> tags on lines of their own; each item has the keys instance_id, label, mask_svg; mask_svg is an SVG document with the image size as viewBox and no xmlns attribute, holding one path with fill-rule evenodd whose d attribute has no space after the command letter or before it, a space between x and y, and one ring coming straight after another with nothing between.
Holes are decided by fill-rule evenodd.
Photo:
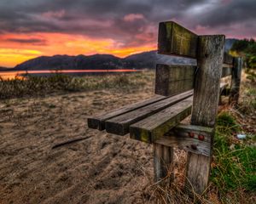
<instances>
[{"instance_id":1,"label":"brown sandy ground in front of the bench","mask_svg":"<svg viewBox=\"0 0 256 204\"><path fill-rule=\"evenodd\" d=\"M146 87L0 102L0 203L147 203L152 146L89 129L86 118L152 94ZM52 149L77 138L87 139Z\"/></svg>"}]
</instances>

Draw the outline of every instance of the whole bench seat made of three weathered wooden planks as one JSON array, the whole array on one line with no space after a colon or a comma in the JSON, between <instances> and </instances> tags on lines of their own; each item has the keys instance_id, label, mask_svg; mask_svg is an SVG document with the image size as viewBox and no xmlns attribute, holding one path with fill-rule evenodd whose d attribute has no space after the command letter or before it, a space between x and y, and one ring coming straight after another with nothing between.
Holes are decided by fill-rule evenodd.
<instances>
[{"instance_id":1,"label":"whole bench seat made of three weathered wooden planks","mask_svg":"<svg viewBox=\"0 0 256 204\"><path fill-rule=\"evenodd\" d=\"M227 86L228 83L221 82L219 94ZM90 116L88 127L117 135L130 133L132 139L151 143L190 115L192 96L193 90L169 97L156 95L104 115Z\"/></svg>"}]
</instances>

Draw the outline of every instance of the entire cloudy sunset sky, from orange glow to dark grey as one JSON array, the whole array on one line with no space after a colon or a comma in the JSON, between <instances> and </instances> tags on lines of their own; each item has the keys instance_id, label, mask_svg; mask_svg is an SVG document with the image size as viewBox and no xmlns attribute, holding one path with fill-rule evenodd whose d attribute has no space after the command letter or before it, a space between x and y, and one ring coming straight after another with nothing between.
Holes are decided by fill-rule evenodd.
<instances>
[{"instance_id":1,"label":"entire cloudy sunset sky, from orange glow to dark grey","mask_svg":"<svg viewBox=\"0 0 256 204\"><path fill-rule=\"evenodd\" d=\"M256 39L255 0L1 0L0 66L154 50L159 22L168 20L198 35Z\"/></svg>"}]
</instances>

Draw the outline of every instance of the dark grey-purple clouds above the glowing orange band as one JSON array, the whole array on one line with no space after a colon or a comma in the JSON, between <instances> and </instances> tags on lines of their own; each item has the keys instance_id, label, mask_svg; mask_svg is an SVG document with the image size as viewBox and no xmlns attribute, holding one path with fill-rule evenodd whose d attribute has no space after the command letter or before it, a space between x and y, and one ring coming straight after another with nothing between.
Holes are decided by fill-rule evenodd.
<instances>
[{"instance_id":1,"label":"dark grey-purple clouds above the glowing orange band","mask_svg":"<svg viewBox=\"0 0 256 204\"><path fill-rule=\"evenodd\" d=\"M158 23L177 20L192 30L210 26L223 31L227 26L255 36L255 6L255 0L1 0L0 33L77 33L129 46L156 41ZM129 14L143 18L125 20ZM251 27L236 31L237 24Z\"/></svg>"}]
</instances>

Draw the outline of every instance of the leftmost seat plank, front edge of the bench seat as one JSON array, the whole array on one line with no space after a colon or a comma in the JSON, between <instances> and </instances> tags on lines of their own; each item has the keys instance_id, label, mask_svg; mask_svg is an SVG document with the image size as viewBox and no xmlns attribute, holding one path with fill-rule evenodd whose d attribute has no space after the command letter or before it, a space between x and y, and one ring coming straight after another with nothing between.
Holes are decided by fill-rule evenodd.
<instances>
[{"instance_id":1,"label":"leftmost seat plank, front edge of the bench seat","mask_svg":"<svg viewBox=\"0 0 256 204\"><path fill-rule=\"evenodd\" d=\"M120 115L125 114L129 111L137 110L137 109L142 108L146 105L154 104L155 102L158 102L162 99L166 99L166 97L164 97L164 96L154 96L151 99L146 99L146 100L137 102L137 103L132 104L132 105L125 105L124 107L121 107L119 109L110 111L110 112L108 112L106 114L103 114L103 115L91 116L91 117L87 118L88 127L93 128L93 129L98 129L98 130L102 131L102 130L105 129L105 122L108 119L111 119L114 116L120 116Z\"/></svg>"}]
</instances>

